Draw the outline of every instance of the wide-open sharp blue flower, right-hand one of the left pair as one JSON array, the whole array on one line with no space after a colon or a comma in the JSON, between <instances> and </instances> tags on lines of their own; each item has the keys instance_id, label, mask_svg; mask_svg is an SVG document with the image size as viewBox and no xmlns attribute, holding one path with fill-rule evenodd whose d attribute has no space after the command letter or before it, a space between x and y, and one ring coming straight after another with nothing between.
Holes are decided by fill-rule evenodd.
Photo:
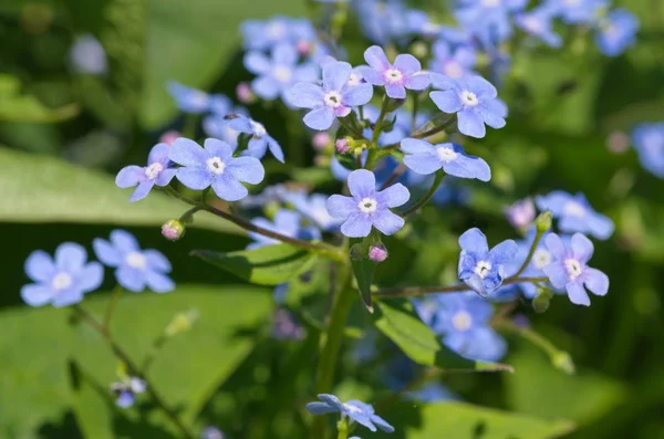
<instances>
[{"instance_id":1,"label":"wide-open sharp blue flower, right-hand one of the left pair","mask_svg":"<svg viewBox=\"0 0 664 439\"><path fill-rule=\"evenodd\" d=\"M170 146L168 157L184 166L176 177L189 189L211 186L217 197L237 201L249 194L241 181L258 185L266 171L258 158L234 157L232 153L230 145L216 138L206 139L205 149L194 140L178 138Z\"/></svg>"}]
</instances>

